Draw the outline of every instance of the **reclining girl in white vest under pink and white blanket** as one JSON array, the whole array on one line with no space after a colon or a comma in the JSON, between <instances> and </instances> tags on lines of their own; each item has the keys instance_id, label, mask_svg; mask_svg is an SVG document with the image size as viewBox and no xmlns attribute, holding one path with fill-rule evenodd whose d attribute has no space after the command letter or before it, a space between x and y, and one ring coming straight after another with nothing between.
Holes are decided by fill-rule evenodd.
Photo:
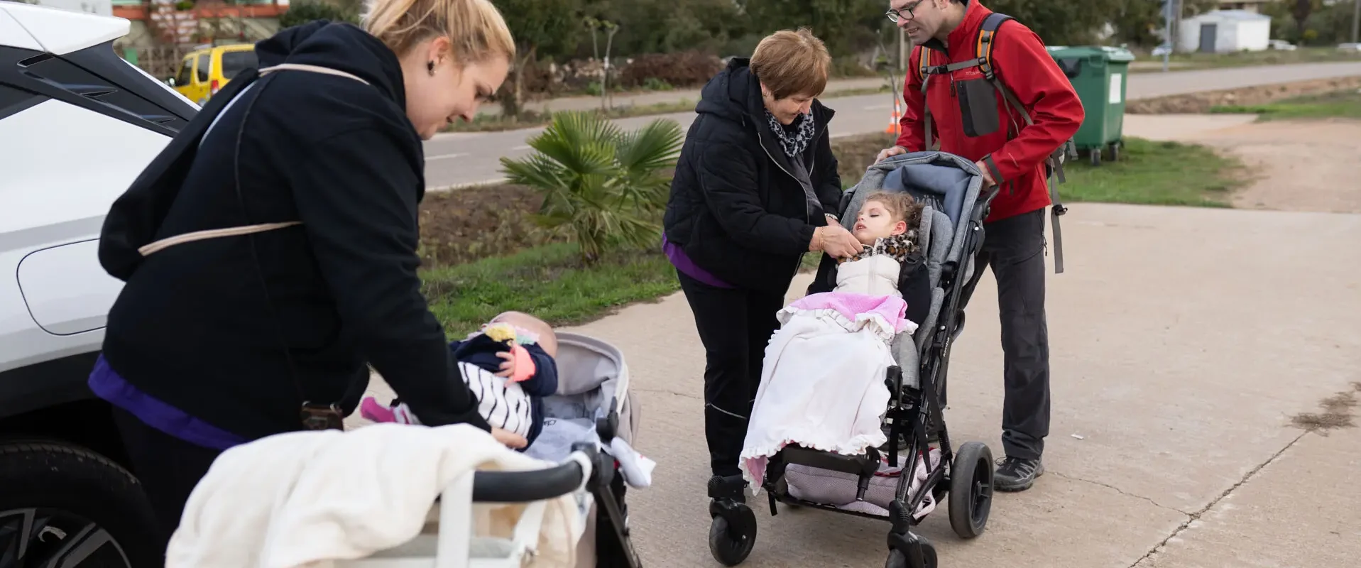
<instances>
[{"instance_id":1,"label":"reclining girl in white vest under pink and white blanket","mask_svg":"<svg viewBox=\"0 0 1361 568\"><path fill-rule=\"evenodd\" d=\"M924 298L900 289L905 271L925 277L913 270L921 262L921 210L909 193L867 196L852 230L864 248L837 260L836 287L777 315L781 328L766 347L739 460L754 492L768 459L788 444L860 455L887 440L881 418L890 396L883 377L896 365L890 343L916 330L908 309L930 304L930 286L902 287Z\"/></svg>"}]
</instances>

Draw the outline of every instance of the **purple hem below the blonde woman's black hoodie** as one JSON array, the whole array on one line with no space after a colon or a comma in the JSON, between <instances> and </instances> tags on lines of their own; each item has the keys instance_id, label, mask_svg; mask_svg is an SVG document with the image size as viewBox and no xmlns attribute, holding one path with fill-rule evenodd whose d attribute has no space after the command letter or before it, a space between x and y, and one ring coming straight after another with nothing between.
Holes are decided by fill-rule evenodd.
<instances>
[{"instance_id":1,"label":"purple hem below the blonde woman's black hoodie","mask_svg":"<svg viewBox=\"0 0 1361 568\"><path fill-rule=\"evenodd\" d=\"M94 369L90 370L88 384L90 390L101 399L127 410L148 426L191 444L212 449L227 449L248 441L245 437L195 418L161 399L139 391L137 387L133 387L132 383L128 383L109 366L109 362L103 360L103 354L99 356L94 364Z\"/></svg>"}]
</instances>

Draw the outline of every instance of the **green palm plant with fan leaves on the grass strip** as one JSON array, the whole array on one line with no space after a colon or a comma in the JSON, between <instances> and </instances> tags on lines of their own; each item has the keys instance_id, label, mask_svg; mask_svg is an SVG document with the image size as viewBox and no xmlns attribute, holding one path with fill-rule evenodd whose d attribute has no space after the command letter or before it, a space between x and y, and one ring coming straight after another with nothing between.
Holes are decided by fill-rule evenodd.
<instances>
[{"instance_id":1,"label":"green palm plant with fan leaves on the grass strip","mask_svg":"<svg viewBox=\"0 0 1361 568\"><path fill-rule=\"evenodd\" d=\"M625 132L595 112L561 112L527 158L501 158L513 184L543 193L535 219L569 229L591 264L617 247L646 247L659 238L657 214L680 151L680 125L657 119Z\"/></svg>"}]
</instances>

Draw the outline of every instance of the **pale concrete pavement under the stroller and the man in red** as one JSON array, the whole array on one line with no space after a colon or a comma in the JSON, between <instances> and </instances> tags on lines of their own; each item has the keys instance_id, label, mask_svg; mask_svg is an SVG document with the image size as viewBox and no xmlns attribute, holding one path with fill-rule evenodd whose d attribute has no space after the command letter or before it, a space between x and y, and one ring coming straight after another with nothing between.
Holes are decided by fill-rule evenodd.
<instances>
[{"instance_id":1,"label":"pale concrete pavement under the stroller and the man in red","mask_svg":"<svg viewBox=\"0 0 1361 568\"><path fill-rule=\"evenodd\" d=\"M931 514L920 533L940 565L1361 565L1361 432L1290 424L1361 380L1361 215L1077 203L1063 223L1048 474L999 493L972 542L943 507ZM969 306L946 417L955 444L1000 452L995 291L989 274ZM629 357L637 445L659 462L655 485L629 496L645 565L719 565L706 546L704 350L683 297L572 331ZM753 503L759 534L744 567L883 565L885 522L772 518L764 496Z\"/></svg>"}]
</instances>

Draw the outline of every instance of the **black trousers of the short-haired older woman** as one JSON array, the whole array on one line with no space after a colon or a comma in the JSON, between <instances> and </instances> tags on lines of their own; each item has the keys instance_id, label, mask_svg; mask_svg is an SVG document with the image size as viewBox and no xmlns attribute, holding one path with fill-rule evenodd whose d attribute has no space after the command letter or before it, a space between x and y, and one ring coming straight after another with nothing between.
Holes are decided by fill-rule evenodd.
<instances>
[{"instance_id":1,"label":"black trousers of the short-haired older woman","mask_svg":"<svg viewBox=\"0 0 1361 568\"><path fill-rule=\"evenodd\" d=\"M709 467L715 475L740 475L738 458L761 387L765 349L780 327L776 312L784 306L784 294L715 287L676 274L704 342L704 437L709 443Z\"/></svg>"}]
</instances>

